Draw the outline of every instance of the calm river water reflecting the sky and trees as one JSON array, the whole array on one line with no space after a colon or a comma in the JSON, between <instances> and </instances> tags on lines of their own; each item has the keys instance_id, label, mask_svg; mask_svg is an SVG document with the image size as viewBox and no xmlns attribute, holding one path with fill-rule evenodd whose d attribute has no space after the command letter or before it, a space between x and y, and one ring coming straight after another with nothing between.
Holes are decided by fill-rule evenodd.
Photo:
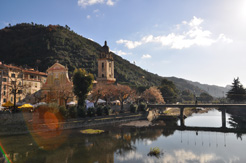
<instances>
[{"instance_id":1,"label":"calm river water reflecting the sky and trees","mask_svg":"<svg viewBox=\"0 0 246 163\"><path fill-rule=\"evenodd\" d=\"M227 127L231 116L227 117ZM194 114L186 126L221 127L221 112ZM239 133L179 131L154 127L109 126L100 135L84 135L79 129L62 132L0 137L0 162L246 162L246 137ZM157 124L158 124L157 123ZM179 125L179 122L172 122ZM148 156L158 147L160 157ZM4 157L5 156L5 157Z\"/></svg>"}]
</instances>

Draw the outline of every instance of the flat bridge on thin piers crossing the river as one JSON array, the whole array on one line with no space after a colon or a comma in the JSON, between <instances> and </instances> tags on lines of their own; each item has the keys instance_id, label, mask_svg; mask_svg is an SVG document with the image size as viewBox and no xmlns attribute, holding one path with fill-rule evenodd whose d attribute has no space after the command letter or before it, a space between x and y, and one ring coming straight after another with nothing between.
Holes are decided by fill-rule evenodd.
<instances>
[{"instance_id":1,"label":"flat bridge on thin piers crossing the river","mask_svg":"<svg viewBox=\"0 0 246 163\"><path fill-rule=\"evenodd\" d=\"M148 104L148 108L166 108L166 107L180 109L181 127L185 127L185 123L184 123L184 109L185 108L192 108L192 107L218 108L221 110L222 128L226 128L226 109L228 108L246 109L246 104L163 104L163 105Z\"/></svg>"}]
</instances>

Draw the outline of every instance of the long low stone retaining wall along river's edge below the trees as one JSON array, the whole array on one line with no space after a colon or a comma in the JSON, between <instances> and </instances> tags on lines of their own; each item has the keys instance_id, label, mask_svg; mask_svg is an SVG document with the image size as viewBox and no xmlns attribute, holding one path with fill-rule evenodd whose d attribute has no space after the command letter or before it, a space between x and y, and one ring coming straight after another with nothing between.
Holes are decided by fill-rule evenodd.
<instances>
[{"instance_id":1,"label":"long low stone retaining wall along river's edge below the trees","mask_svg":"<svg viewBox=\"0 0 246 163\"><path fill-rule=\"evenodd\" d=\"M35 121L33 121L36 119ZM91 118L77 118L60 121L58 123L39 119L38 113L15 113L0 115L0 135L17 135L36 132L59 131L75 128L88 128L102 125L146 119L142 114L122 114Z\"/></svg>"}]
</instances>

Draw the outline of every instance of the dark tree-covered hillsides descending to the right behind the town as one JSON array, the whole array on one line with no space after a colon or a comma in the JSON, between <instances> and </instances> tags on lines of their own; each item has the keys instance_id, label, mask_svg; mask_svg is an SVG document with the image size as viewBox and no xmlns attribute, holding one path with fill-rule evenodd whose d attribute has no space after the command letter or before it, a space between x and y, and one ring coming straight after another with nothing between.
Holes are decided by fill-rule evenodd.
<instances>
[{"instance_id":1,"label":"dark tree-covered hillsides descending to the right behind the town","mask_svg":"<svg viewBox=\"0 0 246 163\"><path fill-rule=\"evenodd\" d=\"M45 72L48 67L59 61L68 66L70 75L75 68L85 68L96 77L100 52L100 44L76 34L68 26L22 23L0 30L0 61L7 64L29 66ZM112 54L117 82L134 86L160 85L163 77L147 72ZM175 77L167 79L173 81L179 90L189 89L197 95L203 91L216 90L216 86L207 89L206 85L184 79ZM211 95L217 97L217 94Z\"/></svg>"}]
</instances>

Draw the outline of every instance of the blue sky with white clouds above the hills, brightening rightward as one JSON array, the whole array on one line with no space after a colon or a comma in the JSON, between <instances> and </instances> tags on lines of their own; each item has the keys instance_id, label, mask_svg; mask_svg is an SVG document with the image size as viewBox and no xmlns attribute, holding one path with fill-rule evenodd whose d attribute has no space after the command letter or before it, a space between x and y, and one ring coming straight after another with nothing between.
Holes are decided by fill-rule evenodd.
<instances>
[{"instance_id":1,"label":"blue sky with white clouds above the hills, brightening rightward","mask_svg":"<svg viewBox=\"0 0 246 163\"><path fill-rule=\"evenodd\" d=\"M9 23L68 25L161 76L246 86L245 0L1 0Z\"/></svg>"}]
</instances>

